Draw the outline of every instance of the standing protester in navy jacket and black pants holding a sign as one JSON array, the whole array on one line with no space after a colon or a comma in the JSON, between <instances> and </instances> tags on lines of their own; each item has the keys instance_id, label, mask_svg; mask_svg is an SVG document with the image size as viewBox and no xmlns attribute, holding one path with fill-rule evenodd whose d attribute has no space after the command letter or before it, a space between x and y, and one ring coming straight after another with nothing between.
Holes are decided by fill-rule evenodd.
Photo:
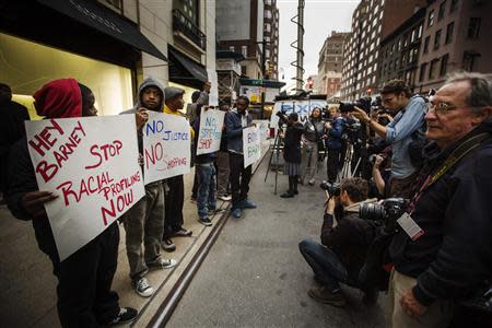
<instances>
[{"instance_id":1,"label":"standing protester in navy jacket and black pants holding a sign","mask_svg":"<svg viewBox=\"0 0 492 328\"><path fill-rule=\"evenodd\" d=\"M256 204L248 200L251 165L244 167L243 130L254 127L251 117L247 114L249 99L246 96L237 98L236 108L225 114L225 130L227 133L227 150L231 166L232 209L234 218L241 218L243 209L255 209Z\"/></svg>"}]
</instances>

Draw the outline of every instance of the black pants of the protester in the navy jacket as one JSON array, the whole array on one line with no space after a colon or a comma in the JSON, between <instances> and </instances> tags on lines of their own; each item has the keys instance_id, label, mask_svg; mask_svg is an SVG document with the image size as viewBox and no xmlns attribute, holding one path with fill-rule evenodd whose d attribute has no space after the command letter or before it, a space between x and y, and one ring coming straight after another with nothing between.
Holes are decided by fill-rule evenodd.
<instances>
[{"instance_id":1,"label":"black pants of the protester in the navy jacket","mask_svg":"<svg viewBox=\"0 0 492 328\"><path fill-rule=\"evenodd\" d=\"M251 179L251 165L244 167L244 156L235 153L229 154L231 168L232 207L248 198L249 180Z\"/></svg>"}]
</instances>

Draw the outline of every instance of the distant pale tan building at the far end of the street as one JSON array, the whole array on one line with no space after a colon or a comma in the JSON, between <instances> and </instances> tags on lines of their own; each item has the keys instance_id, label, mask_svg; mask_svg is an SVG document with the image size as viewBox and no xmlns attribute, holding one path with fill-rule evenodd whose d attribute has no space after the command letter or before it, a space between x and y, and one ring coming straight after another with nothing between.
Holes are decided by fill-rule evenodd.
<instances>
[{"instance_id":1,"label":"distant pale tan building at the far end of the street","mask_svg":"<svg viewBox=\"0 0 492 328\"><path fill-rule=\"evenodd\" d=\"M341 87L341 70L343 63L343 44L349 39L350 32L332 31L319 51L318 81L319 93L327 97L333 96Z\"/></svg>"}]
</instances>

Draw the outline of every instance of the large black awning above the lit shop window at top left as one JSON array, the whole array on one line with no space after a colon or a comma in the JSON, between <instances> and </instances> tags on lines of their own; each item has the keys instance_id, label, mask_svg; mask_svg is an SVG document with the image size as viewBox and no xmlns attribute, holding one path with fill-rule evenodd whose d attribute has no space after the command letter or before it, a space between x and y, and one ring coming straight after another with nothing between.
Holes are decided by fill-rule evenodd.
<instances>
[{"instance_id":1,"label":"large black awning above the lit shop window at top left","mask_svg":"<svg viewBox=\"0 0 492 328\"><path fill-rule=\"evenodd\" d=\"M120 17L109 9L86 0L37 0L86 26L109 35L139 50L167 61L162 54L136 25Z\"/></svg>"}]
</instances>

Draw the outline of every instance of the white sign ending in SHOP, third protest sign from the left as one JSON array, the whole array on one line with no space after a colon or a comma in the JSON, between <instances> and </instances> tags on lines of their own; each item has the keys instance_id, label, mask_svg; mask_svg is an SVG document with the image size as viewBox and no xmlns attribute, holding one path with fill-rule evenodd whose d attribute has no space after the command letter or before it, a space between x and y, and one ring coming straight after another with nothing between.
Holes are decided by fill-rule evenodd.
<instances>
[{"instance_id":1,"label":"white sign ending in SHOP, third protest sign from the left","mask_svg":"<svg viewBox=\"0 0 492 328\"><path fill-rule=\"evenodd\" d=\"M216 152L221 148L222 126L225 112L204 110L200 114L200 132L198 133L197 155Z\"/></svg>"}]
</instances>

